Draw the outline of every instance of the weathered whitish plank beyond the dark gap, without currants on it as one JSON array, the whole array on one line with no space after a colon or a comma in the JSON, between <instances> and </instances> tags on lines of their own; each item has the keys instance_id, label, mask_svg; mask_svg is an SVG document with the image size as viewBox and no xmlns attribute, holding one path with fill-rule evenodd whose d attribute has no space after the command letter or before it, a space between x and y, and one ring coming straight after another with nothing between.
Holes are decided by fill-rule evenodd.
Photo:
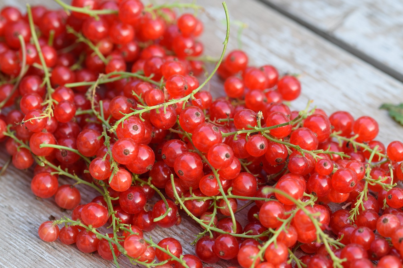
<instances>
[{"instance_id":1,"label":"weathered whitish plank beyond the dark gap, without currants on it","mask_svg":"<svg viewBox=\"0 0 403 268\"><path fill-rule=\"evenodd\" d=\"M403 81L403 2L261 1Z\"/></svg>"}]
</instances>

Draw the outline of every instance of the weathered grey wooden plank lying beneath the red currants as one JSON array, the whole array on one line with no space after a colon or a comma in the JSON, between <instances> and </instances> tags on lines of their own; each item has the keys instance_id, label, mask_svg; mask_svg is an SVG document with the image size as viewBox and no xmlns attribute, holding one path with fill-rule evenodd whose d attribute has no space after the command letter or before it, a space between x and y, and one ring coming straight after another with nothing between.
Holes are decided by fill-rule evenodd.
<instances>
[{"instance_id":1,"label":"weathered grey wooden plank lying beneath the red currants","mask_svg":"<svg viewBox=\"0 0 403 268\"><path fill-rule=\"evenodd\" d=\"M3 2L15 4L12 0ZM40 3L37 1L36 3ZM43 4L43 3L42 3ZM205 33L202 37L206 54L216 56L222 49L225 27L222 24L224 12L219 1L199 1L206 7L202 14ZM402 101L401 82L380 72L373 66L351 56L343 49L318 37L297 23L268 8L264 4L249 0L231 0L227 3L232 20L240 20L249 25L242 36L243 49L256 65L273 64L280 72L301 74L303 93L292 103L294 109L303 109L308 99L328 113L336 110L350 111L355 118L371 115L378 120L380 134L378 139L385 144L402 138L403 128L398 126L385 111L378 110L383 102ZM215 19L212 19L215 18ZM231 28L229 49L237 45L236 30ZM211 89L221 91L217 80ZM6 161L0 155L0 164ZM18 171L9 167L0 178L0 266L4 267L113 267L97 254L79 252L73 246L60 242L45 243L37 235L37 227L50 215L60 218L71 210L60 211L54 200L37 200L30 190L30 171ZM60 184L67 183L60 180ZM89 202L96 194L85 186L78 186L82 203ZM241 219L245 226L245 219ZM147 233L154 241L164 237L176 237L184 247L184 253L193 253L189 242L200 228L183 215L182 224L170 229L156 228ZM127 259L119 258L121 267L131 267ZM230 266L228 262L212 265L216 268Z\"/></svg>"}]
</instances>

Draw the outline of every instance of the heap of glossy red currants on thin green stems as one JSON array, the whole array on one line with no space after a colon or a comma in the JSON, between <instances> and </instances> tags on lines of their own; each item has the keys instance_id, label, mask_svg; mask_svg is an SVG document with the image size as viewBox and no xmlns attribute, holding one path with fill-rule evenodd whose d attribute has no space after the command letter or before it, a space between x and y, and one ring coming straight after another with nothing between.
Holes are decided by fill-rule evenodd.
<instances>
[{"instance_id":1,"label":"heap of glossy red currants on thin green stems","mask_svg":"<svg viewBox=\"0 0 403 268\"><path fill-rule=\"evenodd\" d=\"M173 10L200 6L55 1L0 11L0 138L16 168L37 164L33 194L72 210L42 240L116 266L402 267L403 143L374 140L369 116L291 111L295 76L226 54L225 3L224 48L200 83L203 23ZM226 97L203 90L214 74ZM80 204L77 184L99 196ZM180 211L201 227L195 255L143 235Z\"/></svg>"}]
</instances>

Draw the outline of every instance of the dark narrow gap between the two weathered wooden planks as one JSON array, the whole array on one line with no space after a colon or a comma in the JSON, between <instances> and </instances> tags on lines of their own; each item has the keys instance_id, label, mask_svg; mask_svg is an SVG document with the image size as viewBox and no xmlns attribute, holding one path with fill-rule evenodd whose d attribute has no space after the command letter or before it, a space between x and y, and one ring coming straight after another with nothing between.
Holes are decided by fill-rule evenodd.
<instances>
[{"instance_id":1,"label":"dark narrow gap between the two weathered wooden planks","mask_svg":"<svg viewBox=\"0 0 403 268\"><path fill-rule=\"evenodd\" d=\"M280 14L283 14L284 16L287 16L289 19L295 21L302 27L305 27L309 29L310 31L316 33L320 37L330 41L334 45L337 45L341 49L345 50L346 52L352 54L353 56L363 60L364 62L374 66L378 70L381 70L385 74L388 74L389 76L399 80L400 82L403 82L403 73L395 70L394 68L391 68L390 66L380 62L379 60L375 59L374 57L366 54L365 52L361 51L360 49L357 49L353 45L350 45L349 43L334 37L330 35L329 33L326 33L322 29L319 29L315 25L305 21L303 18L300 18L293 14L292 12L287 11L285 8L282 8L281 6L278 6L277 4L274 4L272 2L269 2L267 0L258 0L258 2L261 2L262 4L266 5L267 7L279 12Z\"/></svg>"}]
</instances>

